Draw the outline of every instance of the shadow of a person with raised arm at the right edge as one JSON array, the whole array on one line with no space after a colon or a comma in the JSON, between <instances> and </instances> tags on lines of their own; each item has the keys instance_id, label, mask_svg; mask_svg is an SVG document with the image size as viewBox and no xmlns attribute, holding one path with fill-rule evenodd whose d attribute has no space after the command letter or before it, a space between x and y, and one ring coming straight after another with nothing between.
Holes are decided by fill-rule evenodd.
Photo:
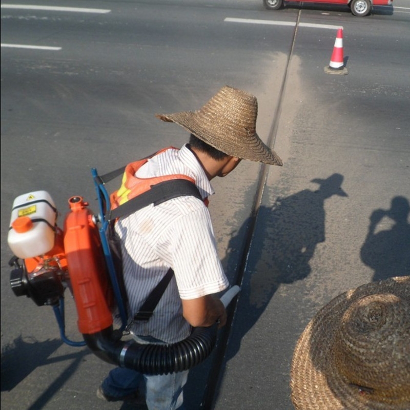
<instances>
[{"instance_id":1,"label":"shadow of a person with raised arm at the right edge","mask_svg":"<svg viewBox=\"0 0 410 410\"><path fill-rule=\"evenodd\" d=\"M410 206L403 196L394 197L390 209L372 212L360 256L374 270L373 281L410 275L409 214Z\"/></svg>"}]
</instances>

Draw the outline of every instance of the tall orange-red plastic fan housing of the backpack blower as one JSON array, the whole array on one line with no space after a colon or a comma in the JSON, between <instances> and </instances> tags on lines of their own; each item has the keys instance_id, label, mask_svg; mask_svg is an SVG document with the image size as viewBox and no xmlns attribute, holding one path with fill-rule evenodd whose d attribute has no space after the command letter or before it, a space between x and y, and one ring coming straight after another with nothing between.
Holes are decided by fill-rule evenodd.
<instances>
[{"instance_id":1,"label":"tall orange-red plastic fan housing of the backpack blower","mask_svg":"<svg viewBox=\"0 0 410 410\"><path fill-rule=\"evenodd\" d=\"M98 227L83 197L69 200L64 221L64 250L78 313L78 329L94 334L113 323L114 297Z\"/></svg>"}]
</instances>

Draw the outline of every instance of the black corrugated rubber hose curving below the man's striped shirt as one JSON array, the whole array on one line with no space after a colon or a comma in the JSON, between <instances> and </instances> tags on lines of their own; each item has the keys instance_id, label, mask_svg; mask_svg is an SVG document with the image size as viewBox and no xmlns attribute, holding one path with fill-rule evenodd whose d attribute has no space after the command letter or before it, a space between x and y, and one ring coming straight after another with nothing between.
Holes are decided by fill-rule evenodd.
<instances>
[{"instance_id":1,"label":"black corrugated rubber hose curving below the man's striped shirt","mask_svg":"<svg viewBox=\"0 0 410 410\"><path fill-rule=\"evenodd\" d=\"M212 352L218 324L194 327L190 336L173 344L139 344L115 338L112 326L91 335L83 334L91 351L100 359L147 375L166 375L188 370Z\"/></svg>"}]
</instances>

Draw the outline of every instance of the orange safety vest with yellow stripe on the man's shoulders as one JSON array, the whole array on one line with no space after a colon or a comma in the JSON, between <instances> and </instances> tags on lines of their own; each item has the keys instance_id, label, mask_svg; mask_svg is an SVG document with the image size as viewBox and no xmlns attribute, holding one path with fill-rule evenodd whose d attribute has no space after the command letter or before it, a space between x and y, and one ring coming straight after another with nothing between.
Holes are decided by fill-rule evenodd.
<instances>
[{"instance_id":1,"label":"orange safety vest with yellow stripe on the man's shoulders","mask_svg":"<svg viewBox=\"0 0 410 410\"><path fill-rule=\"evenodd\" d=\"M149 157L131 162L126 166L124 175L122 176L121 187L119 188L119 190L113 192L110 195L112 210L119 207L128 200L134 198L135 196L149 191L153 185L156 185L160 182L169 181L172 179L187 179L188 181L195 183L195 180L193 178L183 174L162 175L152 178L138 178L135 176L135 173L139 170L139 168L147 163L150 158L170 149L177 150L177 148L174 147L163 148L150 155ZM208 206L208 199L204 198L203 201L205 202L206 206Z\"/></svg>"}]
</instances>

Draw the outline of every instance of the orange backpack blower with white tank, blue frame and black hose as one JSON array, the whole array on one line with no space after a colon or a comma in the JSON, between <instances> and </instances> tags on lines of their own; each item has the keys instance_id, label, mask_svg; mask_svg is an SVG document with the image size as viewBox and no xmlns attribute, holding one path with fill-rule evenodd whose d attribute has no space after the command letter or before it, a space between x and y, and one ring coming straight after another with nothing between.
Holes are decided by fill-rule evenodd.
<instances>
[{"instance_id":1,"label":"orange backpack blower with white tank, blue frame and black hose","mask_svg":"<svg viewBox=\"0 0 410 410\"><path fill-rule=\"evenodd\" d=\"M99 213L94 214L83 197L72 196L68 200L69 212L63 229L56 224L57 210L46 191L15 198L8 234L8 244L14 254L9 262L13 268L11 289L16 296L27 296L38 306L52 306L61 339L71 346L87 345L108 363L151 375L188 370L212 352L217 323L210 327L194 327L187 339L173 344L139 344L121 339L128 322L127 301L122 272L115 267L109 243L113 224L105 183L122 172L124 167L99 176L92 169ZM132 205L128 204L124 213L119 210L121 207L116 208L116 217L155 201L160 203L171 197L196 195L192 187L185 187L187 182L193 185L186 180L181 184L181 179L158 183L147 193L133 198ZM78 330L84 341L71 341L65 335L64 293L67 288L75 301ZM221 297L224 306L238 291L239 286L233 286ZM161 295L157 295L158 300ZM114 311L121 319L119 329L113 326Z\"/></svg>"}]
</instances>

